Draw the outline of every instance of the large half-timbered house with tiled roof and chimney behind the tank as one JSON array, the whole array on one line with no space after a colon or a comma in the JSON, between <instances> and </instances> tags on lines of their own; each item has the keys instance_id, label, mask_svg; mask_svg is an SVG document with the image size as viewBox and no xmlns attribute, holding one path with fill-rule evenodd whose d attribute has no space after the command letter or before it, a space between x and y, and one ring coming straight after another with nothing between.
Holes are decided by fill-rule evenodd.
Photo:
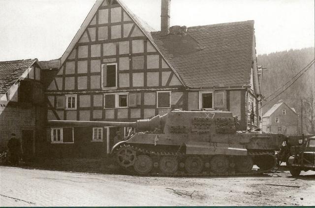
<instances>
[{"instance_id":1,"label":"large half-timbered house with tiled roof and chimney behind the tank","mask_svg":"<svg viewBox=\"0 0 315 208\"><path fill-rule=\"evenodd\" d=\"M121 0L96 1L46 90L47 119L134 121L172 109L220 109L259 126L253 21L154 31ZM117 127L47 127L51 153L109 153Z\"/></svg>"}]
</instances>

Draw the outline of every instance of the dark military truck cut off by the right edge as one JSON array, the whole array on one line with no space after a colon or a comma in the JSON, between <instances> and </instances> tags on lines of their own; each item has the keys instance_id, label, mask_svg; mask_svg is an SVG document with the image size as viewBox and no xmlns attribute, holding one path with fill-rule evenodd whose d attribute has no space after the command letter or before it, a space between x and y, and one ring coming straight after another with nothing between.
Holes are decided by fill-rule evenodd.
<instances>
[{"instance_id":1,"label":"dark military truck cut off by the right edge","mask_svg":"<svg viewBox=\"0 0 315 208\"><path fill-rule=\"evenodd\" d=\"M291 147L294 155L288 159L288 166L292 176L299 176L301 171L315 171L315 136L302 139L301 146Z\"/></svg>"}]
</instances>

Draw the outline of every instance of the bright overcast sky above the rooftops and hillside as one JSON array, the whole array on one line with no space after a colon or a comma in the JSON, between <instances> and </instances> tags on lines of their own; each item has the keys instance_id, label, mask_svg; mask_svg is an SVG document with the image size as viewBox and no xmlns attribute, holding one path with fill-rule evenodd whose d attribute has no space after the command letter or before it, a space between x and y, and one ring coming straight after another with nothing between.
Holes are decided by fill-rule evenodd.
<instances>
[{"instance_id":1,"label":"bright overcast sky above the rooftops and hillside","mask_svg":"<svg viewBox=\"0 0 315 208\"><path fill-rule=\"evenodd\" d=\"M123 0L160 29L160 0ZM0 60L58 59L95 0L0 0ZM171 26L255 21L257 54L314 47L314 0L171 0Z\"/></svg>"}]
</instances>

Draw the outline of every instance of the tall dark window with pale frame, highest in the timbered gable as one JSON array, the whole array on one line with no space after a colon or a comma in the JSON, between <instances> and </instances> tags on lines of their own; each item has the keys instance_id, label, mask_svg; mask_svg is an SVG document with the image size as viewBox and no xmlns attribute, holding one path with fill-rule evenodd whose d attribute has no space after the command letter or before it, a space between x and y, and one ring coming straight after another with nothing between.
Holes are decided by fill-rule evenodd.
<instances>
[{"instance_id":1,"label":"tall dark window with pale frame, highest in the timbered gable","mask_svg":"<svg viewBox=\"0 0 315 208\"><path fill-rule=\"evenodd\" d=\"M117 88L117 63L102 64L102 88Z\"/></svg>"}]
</instances>

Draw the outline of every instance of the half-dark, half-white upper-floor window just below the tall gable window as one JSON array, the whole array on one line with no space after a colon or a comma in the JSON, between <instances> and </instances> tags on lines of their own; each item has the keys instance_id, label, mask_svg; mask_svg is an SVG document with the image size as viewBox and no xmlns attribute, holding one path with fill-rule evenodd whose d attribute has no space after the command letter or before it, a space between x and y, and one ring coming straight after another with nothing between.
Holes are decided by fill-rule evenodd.
<instances>
[{"instance_id":1,"label":"half-dark, half-white upper-floor window just below the tall gable window","mask_svg":"<svg viewBox=\"0 0 315 208\"><path fill-rule=\"evenodd\" d=\"M110 93L104 95L104 108L127 108L128 93Z\"/></svg>"}]
</instances>

